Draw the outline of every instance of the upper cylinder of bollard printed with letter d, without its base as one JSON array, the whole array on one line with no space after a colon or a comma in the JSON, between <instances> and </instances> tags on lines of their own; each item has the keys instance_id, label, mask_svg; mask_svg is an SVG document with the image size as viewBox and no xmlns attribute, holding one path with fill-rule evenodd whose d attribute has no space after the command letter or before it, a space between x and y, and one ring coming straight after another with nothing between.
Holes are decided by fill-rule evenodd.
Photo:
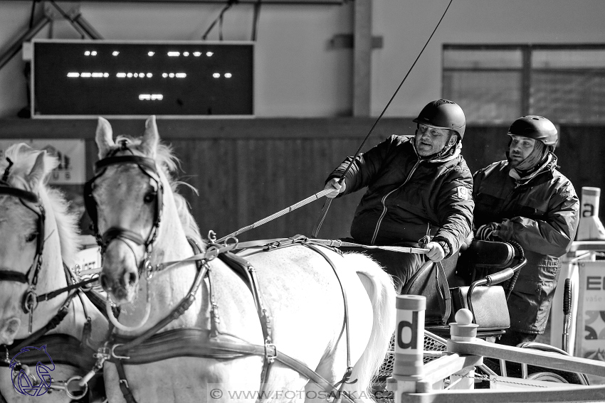
<instances>
[{"instance_id":1,"label":"upper cylinder of bollard printed with letter d, without its base","mask_svg":"<svg viewBox=\"0 0 605 403\"><path fill-rule=\"evenodd\" d=\"M396 308L393 375L395 377L422 377L426 297L420 295L397 296Z\"/></svg>"}]
</instances>

